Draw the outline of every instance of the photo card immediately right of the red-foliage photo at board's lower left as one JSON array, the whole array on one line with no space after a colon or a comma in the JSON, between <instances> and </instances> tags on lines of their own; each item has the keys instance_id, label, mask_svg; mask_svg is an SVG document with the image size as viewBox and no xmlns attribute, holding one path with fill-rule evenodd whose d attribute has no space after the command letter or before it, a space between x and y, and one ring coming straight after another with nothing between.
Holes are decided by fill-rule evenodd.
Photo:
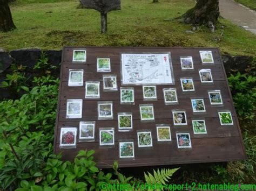
<instances>
[{"instance_id":1,"label":"photo card immediately right of the red-foliage photo at board's lower left","mask_svg":"<svg viewBox=\"0 0 256 191\"><path fill-rule=\"evenodd\" d=\"M95 122L80 122L79 123L79 139L94 139L95 138Z\"/></svg>"}]
</instances>

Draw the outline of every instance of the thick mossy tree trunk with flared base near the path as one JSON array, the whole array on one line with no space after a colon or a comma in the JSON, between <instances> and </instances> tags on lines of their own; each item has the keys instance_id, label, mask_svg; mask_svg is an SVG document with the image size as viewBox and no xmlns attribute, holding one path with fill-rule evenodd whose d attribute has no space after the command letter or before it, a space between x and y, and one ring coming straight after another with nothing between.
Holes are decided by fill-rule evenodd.
<instances>
[{"instance_id":1,"label":"thick mossy tree trunk with flared base near the path","mask_svg":"<svg viewBox=\"0 0 256 191\"><path fill-rule=\"evenodd\" d=\"M219 0L198 0L182 17L185 23L210 26L217 23L219 15Z\"/></svg>"}]
</instances>

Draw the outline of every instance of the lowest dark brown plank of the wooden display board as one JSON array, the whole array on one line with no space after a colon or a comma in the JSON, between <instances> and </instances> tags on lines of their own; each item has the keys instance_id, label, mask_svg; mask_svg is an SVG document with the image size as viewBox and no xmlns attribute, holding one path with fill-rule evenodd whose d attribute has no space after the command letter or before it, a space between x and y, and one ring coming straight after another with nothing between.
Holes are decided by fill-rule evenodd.
<instances>
[{"instance_id":1,"label":"lowest dark brown plank of the wooden display board","mask_svg":"<svg viewBox=\"0 0 256 191\"><path fill-rule=\"evenodd\" d=\"M169 144L154 141L151 148L139 148L134 140L134 159L119 159L119 142L124 142L125 139L115 142L114 147L99 147L97 143L78 143L76 150L65 150L63 159L73 160L79 150L93 149L96 151L94 156L97 166L100 168L111 168L114 160L118 160L120 167L244 160L245 155L238 140L239 137L192 138L192 148L183 149L177 148L176 139ZM57 152L64 151L58 146Z\"/></svg>"}]
</instances>

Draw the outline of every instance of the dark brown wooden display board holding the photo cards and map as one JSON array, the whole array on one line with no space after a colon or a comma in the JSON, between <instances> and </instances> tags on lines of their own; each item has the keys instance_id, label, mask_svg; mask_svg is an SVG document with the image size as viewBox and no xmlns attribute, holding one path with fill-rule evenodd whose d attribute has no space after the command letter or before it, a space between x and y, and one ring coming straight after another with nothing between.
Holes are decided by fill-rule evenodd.
<instances>
[{"instance_id":1,"label":"dark brown wooden display board holding the photo cards and map","mask_svg":"<svg viewBox=\"0 0 256 191\"><path fill-rule=\"evenodd\" d=\"M86 50L86 62L73 62L73 50ZM211 51L214 63L203 64L199 51ZM156 85L157 100L145 101L142 86L129 86L134 88L134 104L120 104L120 53L161 53L170 52L175 84ZM180 56L192 56L193 70L182 70ZM111 72L97 72L97 58L110 58ZM69 70L83 69L83 86L70 87ZM211 69L213 83L202 83L199 70ZM117 91L103 91L103 75L117 75ZM194 91L184 92L181 89L180 79L192 77ZM198 162L220 162L246 159L241 132L235 114L232 96L227 83L227 77L217 48L145 48L145 47L64 47L60 73L60 86L55 128L55 152L63 153L63 160L73 160L79 150L95 150L95 161L100 168L110 168L114 160L119 161L120 167L188 164ZM85 82L100 81L100 98L85 98ZM166 105L163 88L176 88L178 104ZM220 90L223 105L216 106L210 103L208 90ZM193 112L191 99L202 98L205 110L203 113ZM83 100L82 118L66 118L66 101L68 99ZM112 101L113 119L98 120L97 104L99 101ZM154 121L140 121L140 104L153 104ZM186 112L187 125L175 126L173 124L173 110ZM221 125L218 112L228 110L231 112L233 125ZM118 112L132 112L133 129L128 132L118 131ZM207 133L195 134L192 120L204 119ZM95 121L95 140L80 143L79 122ZM156 124L169 124L171 141L159 142L157 139ZM65 126L77 128L76 148L60 148L60 128ZM114 128L114 145L99 145L99 129ZM147 130L152 135L151 147L138 147L137 132ZM178 148L177 133L189 133L191 148ZM133 142L134 157L120 158L119 143Z\"/></svg>"}]
</instances>

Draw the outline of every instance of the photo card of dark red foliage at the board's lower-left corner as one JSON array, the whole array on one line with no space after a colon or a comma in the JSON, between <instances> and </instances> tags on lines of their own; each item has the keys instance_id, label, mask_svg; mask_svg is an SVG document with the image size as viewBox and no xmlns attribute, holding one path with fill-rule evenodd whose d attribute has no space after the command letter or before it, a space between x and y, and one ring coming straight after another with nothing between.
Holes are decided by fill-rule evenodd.
<instances>
[{"instance_id":1,"label":"photo card of dark red foliage at the board's lower-left corner","mask_svg":"<svg viewBox=\"0 0 256 191\"><path fill-rule=\"evenodd\" d=\"M61 128L60 129L60 145L59 146L76 146L77 128Z\"/></svg>"}]
</instances>

